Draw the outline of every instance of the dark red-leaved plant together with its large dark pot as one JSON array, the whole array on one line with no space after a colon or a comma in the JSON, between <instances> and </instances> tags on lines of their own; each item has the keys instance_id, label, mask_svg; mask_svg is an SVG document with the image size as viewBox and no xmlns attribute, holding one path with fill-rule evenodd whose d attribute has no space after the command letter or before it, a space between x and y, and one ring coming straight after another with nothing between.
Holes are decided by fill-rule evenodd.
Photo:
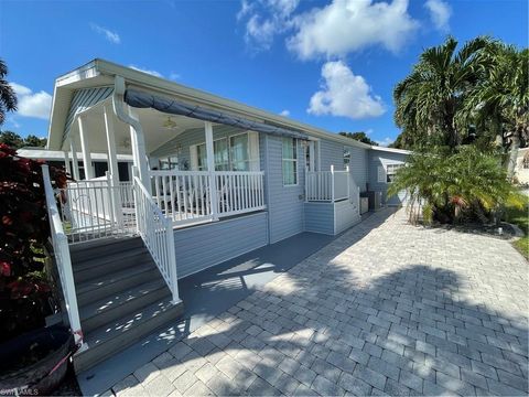
<instances>
[{"instance_id":1,"label":"dark red-leaved plant together with its large dark pot","mask_svg":"<svg viewBox=\"0 0 529 397\"><path fill-rule=\"evenodd\" d=\"M66 372L73 339L45 326L56 308L44 269L50 237L41 161L20 158L0 143L0 389L47 394ZM52 168L55 187L66 174Z\"/></svg>"}]
</instances>

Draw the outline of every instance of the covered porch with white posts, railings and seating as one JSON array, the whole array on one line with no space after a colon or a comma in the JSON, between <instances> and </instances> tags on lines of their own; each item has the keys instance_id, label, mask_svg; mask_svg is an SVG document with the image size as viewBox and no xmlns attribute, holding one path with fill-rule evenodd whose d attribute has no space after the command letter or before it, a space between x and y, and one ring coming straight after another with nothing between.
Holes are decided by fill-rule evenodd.
<instances>
[{"instance_id":1,"label":"covered porch with white posts, railings and seating","mask_svg":"<svg viewBox=\"0 0 529 397\"><path fill-rule=\"evenodd\" d=\"M64 192L63 216L73 236L130 233L139 221L150 222L142 216L145 207L174 228L266 208L258 132L126 106L128 125L112 106L109 97L76 115L63 144L74 180ZM95 178L90 167L79 171L72 155L79 147L83 164L91 164L91 153L107 153L106 176ZM132 181L119 181L117 154L132 154ZM134 196L134 178L144 194Z\"/></svg>"}]
</instances>

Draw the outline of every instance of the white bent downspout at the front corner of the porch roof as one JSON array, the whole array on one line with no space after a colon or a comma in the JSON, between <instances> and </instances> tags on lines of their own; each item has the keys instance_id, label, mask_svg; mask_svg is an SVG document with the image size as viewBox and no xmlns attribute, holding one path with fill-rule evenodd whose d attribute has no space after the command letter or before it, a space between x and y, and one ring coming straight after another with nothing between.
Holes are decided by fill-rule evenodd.
<instances>
[{"instance_id":1,"label":"white bent downspout at the front corner of the porch roof","mask_svg":"<svg viewBox=\"0 0 529 397\"><path fill-rule=\"evenodd\" d=\"M147 189L147 191L151 193L143 128L137 118L130 116L128 111L125 110L125 78L121 76L116 76L114 81L112 110L116 117L120 121L129 125L131 132L133 131L136 135L136 139L132 141L134 165L138 168L138 176L140 181L143 183L143 186Z\"/></svg>"}]
</instances>

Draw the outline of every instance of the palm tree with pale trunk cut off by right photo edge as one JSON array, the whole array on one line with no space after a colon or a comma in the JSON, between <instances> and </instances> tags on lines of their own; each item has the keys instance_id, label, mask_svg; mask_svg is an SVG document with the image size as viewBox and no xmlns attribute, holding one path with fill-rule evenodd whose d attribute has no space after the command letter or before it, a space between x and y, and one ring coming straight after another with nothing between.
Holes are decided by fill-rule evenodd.
<instances>
[{"instance_id":1,"label":"palm tree with pale trunk cut off by right photo edge","mask_svg":"<svg viewBox=\"0 0 529 397\"><path fill-rule=\"evenodd\" d=\"M495 42L484 57L486 76L473 87L465 114L482 128L492 126L498 142L508 142L506 168L511 180L520 140L529 136L529 50Z\"/></svg>"}]
</instances>

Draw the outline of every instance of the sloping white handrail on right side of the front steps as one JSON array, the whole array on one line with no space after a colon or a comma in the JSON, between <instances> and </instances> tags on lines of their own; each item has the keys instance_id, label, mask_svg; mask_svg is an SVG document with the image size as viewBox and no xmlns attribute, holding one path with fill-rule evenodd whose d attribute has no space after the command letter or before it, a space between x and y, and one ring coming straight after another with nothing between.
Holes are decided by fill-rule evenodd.
<instances>
[{"instance_id":1,"label":"sloping white handrail on right side of the front steps","mask_svg":"<svg viewBox=\"0 0 529 397\"><path fill-rule=\"evenodd\" d=\"M138 176L133 179L133 192L138 233L171 290L173 303L177 303L180 298L172 219L163 214Z\"/></svg>"}]
</instances>

